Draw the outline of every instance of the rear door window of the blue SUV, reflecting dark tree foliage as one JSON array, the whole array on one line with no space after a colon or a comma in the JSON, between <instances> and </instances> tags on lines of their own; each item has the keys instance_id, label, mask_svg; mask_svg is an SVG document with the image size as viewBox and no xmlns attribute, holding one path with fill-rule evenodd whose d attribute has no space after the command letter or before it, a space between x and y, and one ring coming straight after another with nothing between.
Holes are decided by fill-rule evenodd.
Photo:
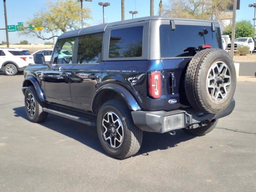
<instances>
[{"instance_id":1,"label":"rear door window of the blue SUV, reflecting dark tree foliage","mask_svg":"<svg viewBox=\"0 0 256 192\"><path fill-rule=\"evenodd\" d=\"M78 64L99 63L102 53L103 34L78 37Z\"/></svg>"}]
</instances>

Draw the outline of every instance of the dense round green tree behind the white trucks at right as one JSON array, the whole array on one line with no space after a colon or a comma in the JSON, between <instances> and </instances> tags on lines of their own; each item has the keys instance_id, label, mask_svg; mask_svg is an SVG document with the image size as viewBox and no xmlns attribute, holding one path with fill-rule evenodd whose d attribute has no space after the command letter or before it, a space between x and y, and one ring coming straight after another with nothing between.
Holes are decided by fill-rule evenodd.
<instances>
[{"instance_id":1,"label":"dense round green tree behind the white trucks at right","mask_svg":"<svg viewBox=\"0 0 256 192\"><path fill-rule=\"evenodd\" d=\"M224 35L229 35L231 38L232 34L232 25L226 27L223 31ZM252 37L253 36L253 26L250 21L242 20L240 22L236 22L236 35L235 38L238 37Z\"/></svg>"}]
</instances>

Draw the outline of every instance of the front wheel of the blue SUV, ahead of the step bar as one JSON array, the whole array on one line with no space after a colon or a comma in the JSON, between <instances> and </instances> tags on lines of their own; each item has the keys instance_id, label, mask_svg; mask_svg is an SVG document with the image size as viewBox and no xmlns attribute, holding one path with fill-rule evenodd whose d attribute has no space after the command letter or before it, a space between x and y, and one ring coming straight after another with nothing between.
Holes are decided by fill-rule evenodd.
<instances>
[{"instance_id":1,"label":"front wheel of the blue SUV, ahead of the step bar","mask_svg":"<svg viewBox=\"0 0 256 192\"><path fill-rule=\"evenodd\" d=\"M31 96L32 98L34 98L34 104L33 104L33 101L30 102ZM24 101L25 101L26 114L30 121L39 123L46 120L48 113L42 110L42 106L39 103L38 96L33 86L28 86L28 88L26 89Z\"/></svg>"}]
</instances>

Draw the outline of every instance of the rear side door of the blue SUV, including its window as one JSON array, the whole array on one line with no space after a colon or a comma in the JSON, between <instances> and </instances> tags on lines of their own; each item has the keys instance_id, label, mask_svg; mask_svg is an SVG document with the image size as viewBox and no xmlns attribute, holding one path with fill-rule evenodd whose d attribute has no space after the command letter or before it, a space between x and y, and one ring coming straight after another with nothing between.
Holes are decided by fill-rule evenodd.
<instances>
[{"instance_id":1,"label":"rear side door of the blue SUV, including its window","mask_svg":"<svg viewBox=\"0 0 256 192\"><path fill-rule=\"evenodd\" d=\"M103 33L78 37L76 64L70 76L73 106L90 111L92 97L100 86L102 69Z\"/></svg>"}]
</instances>

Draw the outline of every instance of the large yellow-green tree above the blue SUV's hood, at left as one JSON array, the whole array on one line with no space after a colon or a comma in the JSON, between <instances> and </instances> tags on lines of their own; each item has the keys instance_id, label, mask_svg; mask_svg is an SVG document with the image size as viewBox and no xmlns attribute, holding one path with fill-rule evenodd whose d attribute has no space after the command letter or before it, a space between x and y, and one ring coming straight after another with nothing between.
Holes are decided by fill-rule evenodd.
<instances>
[{"instance_id":1,"label":"large yellow-green tree above the blue SUV's hood, at left","mask_svg":"<svg viewBox=\"0 0 256 192\"><path fill-rule=\"evenodd\" d=\"M56 2L48 1L45 8L34 14L34 17L26 22L27 27L20 31L19 36L37 37L42 40L54 39L56 34L64 33L68 30L80 28L81 8L77 0L57 0ZM83 8L84 23L88 26L87 20L91 19L91 10ZM42 31L30 30L29 25L43 27ZM50 37L48 34L50 33ZM54 42L53 42L54 43Z\"/></svg>"}]
</instances>

